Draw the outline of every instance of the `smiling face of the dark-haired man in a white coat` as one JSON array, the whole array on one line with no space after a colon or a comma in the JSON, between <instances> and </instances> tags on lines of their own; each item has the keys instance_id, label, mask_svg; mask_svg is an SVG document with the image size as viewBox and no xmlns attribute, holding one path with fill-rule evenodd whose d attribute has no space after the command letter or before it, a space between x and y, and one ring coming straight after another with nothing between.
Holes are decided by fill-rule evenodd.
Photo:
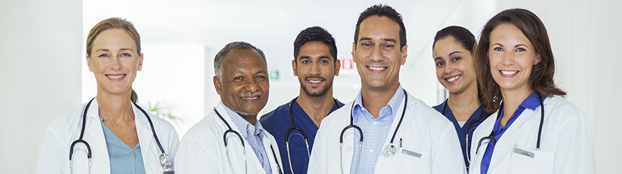
<instances>
[{"instance_id":1,"label":"smiling face of the dark-haired man in a white coat","mask_svg":"<svg viewBox=\"0 0 622 174\"><path fill-rule=\"evenodd\" d=\"M399 48L397 22L377 15L364 19L360 24L358 42L352 46L362 89L397 89L399 68L406 62L407 47Z\"/></svg>"}]
</instances>

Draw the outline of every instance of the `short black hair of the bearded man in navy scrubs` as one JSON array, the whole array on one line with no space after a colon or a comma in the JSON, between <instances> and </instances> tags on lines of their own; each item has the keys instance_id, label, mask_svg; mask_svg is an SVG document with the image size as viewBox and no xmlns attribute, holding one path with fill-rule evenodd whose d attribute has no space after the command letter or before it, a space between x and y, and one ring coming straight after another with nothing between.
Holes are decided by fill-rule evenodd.
<instances>
[{"instance_id":1,"label":"short black hair of the bearded man in navy scrubs","mask_svg":"<svg viewBox=\"0 0 622 174\"><path fill-rule=\"evenodd\" d=\"M307 42L319 41L328 46L330 55L333 55L333 61L337 61L337 45L335 44L335 38L330 35L326 29L319 26L312 26L298 33L296 40L294 40L294 60L298 60L298 53L300 53L300 47Z\"/></svg>"}]
</instances>

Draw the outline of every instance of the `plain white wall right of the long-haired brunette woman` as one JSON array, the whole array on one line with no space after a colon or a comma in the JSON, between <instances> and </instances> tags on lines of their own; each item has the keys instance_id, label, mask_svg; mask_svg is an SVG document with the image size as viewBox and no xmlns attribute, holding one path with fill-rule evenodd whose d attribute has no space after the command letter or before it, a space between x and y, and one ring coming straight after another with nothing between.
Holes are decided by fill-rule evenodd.
<instances>
[{"instance_id":1,"label":"plain white wall right of the long-haired brunette woman","mask_svg":"<svg viewBox=\"0 0 622 174\"><path fill-rule=\"evenodd\" d=\"M557 61L556 82L589 119L596 173L622 173L622 1L499 1L497 10L527 8L545 24Z\"/></svg>"}]
</instances>

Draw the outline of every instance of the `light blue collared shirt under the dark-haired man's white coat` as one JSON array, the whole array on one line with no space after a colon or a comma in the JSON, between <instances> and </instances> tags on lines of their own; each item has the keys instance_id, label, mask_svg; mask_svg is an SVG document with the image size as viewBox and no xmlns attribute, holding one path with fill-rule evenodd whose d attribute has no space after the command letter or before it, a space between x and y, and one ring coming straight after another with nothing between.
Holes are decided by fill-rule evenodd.
<instances>
[{"instance_id":1,"label":"light blue collared shirt under the dark-haired man's white coat","mask_svg":"<svg viewBox=\"0 0 622 174\"><path fill-rule=\"evenodd\" d=\"M376 168L376 162L380 157L383 150L383 145L387 139L387 134L391 128L393 120L396 114L401 114L398 111L401 101L404 100L404 90L401 85L397 88L395 94L393 94L391 100L385 107L382 107L378 114L378 119L374 118L365 107L362 107L361 92L358 92L356 99L354 99L354 108L352 110L353 123L358 125L363 132L362 150L360 151L360 164L358 164L357 173L374 173ZM371 100L369 98L368 100ZM360 139L360 134L355 131L354 139ZM354 147L358 147L359 141L354 141ZM358 150L354 150L352 156L352 163L350 166L350 173L354 173L356 170L356 160L358 158Z\"/></svg>"}]
</instances>

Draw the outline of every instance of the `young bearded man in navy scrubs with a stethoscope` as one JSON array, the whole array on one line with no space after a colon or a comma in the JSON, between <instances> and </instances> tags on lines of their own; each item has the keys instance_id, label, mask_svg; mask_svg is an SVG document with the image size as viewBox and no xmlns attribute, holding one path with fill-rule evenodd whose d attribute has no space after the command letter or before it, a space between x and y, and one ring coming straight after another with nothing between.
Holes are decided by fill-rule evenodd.
<instances>
[{"instance_id":1,"label":"young bearded man in navy scrubs with a stethoscope","mask_svg":"<svg viewBox=\"0 0 622 174\"><path fill-rule=\"evenodd\" d=\"M309 154L322 119L344 105L333 98L333 78L339 76L340 69L333 36L319 26L301 31L294 41L292 68L300 81L300 94L262 116L260 122L278 143L285 173L298 174L307 173ZM302 132L291 129L294 126Z\"/></svg>"}]
</instances>

